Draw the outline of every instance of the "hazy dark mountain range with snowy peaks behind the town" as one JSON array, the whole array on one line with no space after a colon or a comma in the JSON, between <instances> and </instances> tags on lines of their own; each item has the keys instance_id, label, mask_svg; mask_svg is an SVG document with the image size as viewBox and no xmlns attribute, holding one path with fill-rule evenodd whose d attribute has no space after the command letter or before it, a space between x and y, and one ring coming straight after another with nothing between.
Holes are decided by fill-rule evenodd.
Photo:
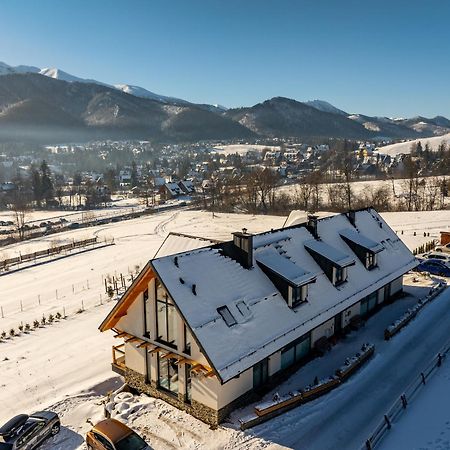
<instances>
[{"instance_id":1,"label":"hazy dark mountain range with snowy peaks behind the town","mask_svg":"<svg viewBox=\"0 0 450 450\"><path fill-rule=\"evenodd\" d=\"M251 107L194 104L60 69L0 62L0 139L171 141L260 137L411 139L450 132L450 120L349 114L323 100L274 97Z\"/></svg>"}]
</instances>

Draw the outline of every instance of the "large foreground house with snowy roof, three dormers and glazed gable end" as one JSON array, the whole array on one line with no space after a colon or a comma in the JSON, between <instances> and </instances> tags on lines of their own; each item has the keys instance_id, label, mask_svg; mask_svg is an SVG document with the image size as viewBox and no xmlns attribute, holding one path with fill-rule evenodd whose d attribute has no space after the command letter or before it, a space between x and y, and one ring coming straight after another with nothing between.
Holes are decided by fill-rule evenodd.
<instances>
[{"instance_id":1,"label":"large foreground house with snowy roof, three dormers and glazed gable end","mask_svg":"<svg viewBox=\"0 0 450 450\"><path fill-rule=\"evenodd\" d=\"M113 370L216 425L398 296L416 259L372 208L216 243L169 235L100 326Z\"/></svg>"}]
</instances>

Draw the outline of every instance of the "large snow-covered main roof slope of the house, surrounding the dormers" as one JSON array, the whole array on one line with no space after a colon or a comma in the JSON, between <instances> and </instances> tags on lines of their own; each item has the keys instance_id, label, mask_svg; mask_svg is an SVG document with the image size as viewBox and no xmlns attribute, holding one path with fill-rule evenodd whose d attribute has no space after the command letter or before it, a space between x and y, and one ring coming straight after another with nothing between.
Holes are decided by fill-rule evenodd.
<instances>
[{"instance_id":1,"label":"large snow-covered main roof slope of the house, surrounding the dormers","mask_svg":"<svg viewBox=\"0 0 450 450\"><path fill-rule=\"evenodd\" d=\"M179 253L176 261L173 256L157 258L151 266L222 382L226 382L417 265L412 253L375 210L356 211L355 226L385 248L372 270L353 257L340 236L342 230L354 229L344 214L318 220L320 242L304 224L254 235L251 269L227 256L225 244ZM339 264L354 260L347 281L334 286L305 243ZM298 266L294 271L283 262L281 270L289 276L298 277L304 271L316 277L316 282L308 285L308 301L296 308L288 306L256 264L258 258L273 255L273 250ZM266 262L268 259L272 266L280 261L270 257ZM233 326L219 314L218 308L223 306L234 317Z\"/></svg>"}]
</instances>

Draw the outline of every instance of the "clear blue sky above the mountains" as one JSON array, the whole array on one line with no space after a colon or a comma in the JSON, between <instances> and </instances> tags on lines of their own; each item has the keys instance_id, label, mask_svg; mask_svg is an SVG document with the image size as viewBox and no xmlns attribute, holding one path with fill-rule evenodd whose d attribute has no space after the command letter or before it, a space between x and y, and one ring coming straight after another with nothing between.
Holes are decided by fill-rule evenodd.
<instances>
[{"instance_id":1,"label":"clear blue sky above the mountains","mask_svg":"<svg viewBox=\"0 0 450 450\"><path fill-rule=\"evenodd\" d=\"M447 0L2 0L0 61L228 107L450 116Z\"/></svg>"}]
</instances>

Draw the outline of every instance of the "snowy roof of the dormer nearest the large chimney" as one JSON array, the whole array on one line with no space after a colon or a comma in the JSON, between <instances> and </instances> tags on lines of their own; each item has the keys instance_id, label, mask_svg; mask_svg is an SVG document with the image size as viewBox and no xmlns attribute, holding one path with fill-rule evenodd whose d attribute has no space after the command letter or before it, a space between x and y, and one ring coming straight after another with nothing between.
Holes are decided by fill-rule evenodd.
<instances>
[{"instance_id":1,"label":"snowy roof of the dormer nearest the large chimney","mask_svg":"<svg viewBox=\"0 0 450 450\"><path fill-rule=\"evenodd\" d=\"M290 259L282 256L274 247L263 248L255 254L258 263L280 275L291 284L301 286L315 279L315 275L307 272Z\"/></svg>"}]
</instances>

